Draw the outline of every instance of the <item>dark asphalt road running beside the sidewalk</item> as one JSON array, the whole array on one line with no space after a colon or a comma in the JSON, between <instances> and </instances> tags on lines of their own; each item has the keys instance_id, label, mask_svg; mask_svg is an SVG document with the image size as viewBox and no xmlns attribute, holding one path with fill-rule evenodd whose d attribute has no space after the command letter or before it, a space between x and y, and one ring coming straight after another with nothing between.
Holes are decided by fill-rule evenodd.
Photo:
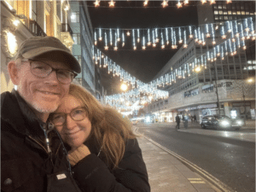
<instances>
[{"instance_id":1,"label":"dark asphalt road running beside the sidewalk","mask_svg":"<svg viewBox=\"0 0 256 192\"><path fill-rule=\"evenodd\" d=\"M255 191L255 143L176 131L174 125L137 125L137 128L146 137L200 166L231 189Z\"/></svg>"}]
</instances>

